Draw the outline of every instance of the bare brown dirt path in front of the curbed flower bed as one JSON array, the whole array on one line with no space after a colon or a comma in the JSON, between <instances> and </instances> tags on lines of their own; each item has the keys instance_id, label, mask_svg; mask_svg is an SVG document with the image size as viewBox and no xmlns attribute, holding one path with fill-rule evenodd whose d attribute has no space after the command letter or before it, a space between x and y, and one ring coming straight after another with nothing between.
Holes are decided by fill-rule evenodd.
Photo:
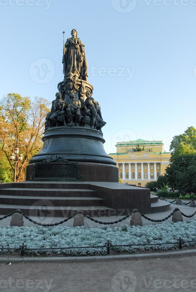
<instances>
[{"instance_id":1,"label":"bare brown dirt path in front of the curbed flower bed","mask_svg":"<svg viewBox=\"0 0 196 292\"><path fill-rule=\"evenodd\" d=\"M196 255L79 263L0 264L0 291L196 291Z\"/></svg>"}]
</instances>

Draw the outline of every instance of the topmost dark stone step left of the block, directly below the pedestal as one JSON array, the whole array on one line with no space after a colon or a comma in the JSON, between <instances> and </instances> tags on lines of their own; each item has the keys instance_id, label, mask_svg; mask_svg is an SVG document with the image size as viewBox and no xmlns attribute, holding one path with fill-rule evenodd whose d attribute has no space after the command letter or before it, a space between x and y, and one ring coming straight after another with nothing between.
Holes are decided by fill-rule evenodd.
<instances>
[{"instance_id":1,"label":"topmost dark stone step left of the block, directly below the pedestal","mask_svg":"<svg viewBox=\"0 0 196 292\"><path fill-rule=\"evenodd\" d=\"M21 181L16 183L0 184L0 189L7 188L39 188L39 189L88 189L87 182L68 182L68 181Z\"/></svg>"}]
</instances>

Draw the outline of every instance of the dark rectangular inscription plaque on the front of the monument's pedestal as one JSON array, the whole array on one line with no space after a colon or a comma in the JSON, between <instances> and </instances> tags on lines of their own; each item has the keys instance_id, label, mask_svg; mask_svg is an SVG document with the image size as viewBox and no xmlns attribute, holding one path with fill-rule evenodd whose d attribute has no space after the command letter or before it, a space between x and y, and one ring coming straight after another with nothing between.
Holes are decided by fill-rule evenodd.
<instances>
[{"instance_id":1,"label":"dark rectangular inscription plaque on the front of the monument's pedestal","mask_svg":"<svg viewBox=\"0 0 196 292\"><path fill-rule=\"evenodd\" d=\"M36 163L34 180L77 181L81 179L78 163Z\"/></svg>"}]
</instances>

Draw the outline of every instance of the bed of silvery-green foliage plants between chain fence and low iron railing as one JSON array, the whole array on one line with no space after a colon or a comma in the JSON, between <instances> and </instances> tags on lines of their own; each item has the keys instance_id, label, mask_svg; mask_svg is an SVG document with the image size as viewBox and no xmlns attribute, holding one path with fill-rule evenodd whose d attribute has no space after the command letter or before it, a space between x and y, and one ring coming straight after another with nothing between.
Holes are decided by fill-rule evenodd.
<instances>
[{"instance_id":1,"label":"bed of silvery-green foliage plants between chain fence and low iron railing","mask_svg":"<svg viewBox=\"0 0 196 292\"><path fill-rule=\"evenodd\" d=\"M111 247L111 251L134 252L149 250L166 250L177 248L177 245L169 243L176 242L179 237L184 241L196 240L196 220L162 223L147 226L121 227L10 227L0 226L0 247L19 248L24 243L27 248L51 248L51 247L76 247L76 246L104 246L107 240L113 245L123 244L147 244L156 243L156 246L120 246ZM168 243L159 246L158 243ZM195 246L195 243L186 243L186 246ZM2 250L6 252L7 250ZM98 255L106 254L106 248L79 248L66 250L36 250L26 251L28 253L67 254L67 255Z\"/></svg>"}]
</instances>

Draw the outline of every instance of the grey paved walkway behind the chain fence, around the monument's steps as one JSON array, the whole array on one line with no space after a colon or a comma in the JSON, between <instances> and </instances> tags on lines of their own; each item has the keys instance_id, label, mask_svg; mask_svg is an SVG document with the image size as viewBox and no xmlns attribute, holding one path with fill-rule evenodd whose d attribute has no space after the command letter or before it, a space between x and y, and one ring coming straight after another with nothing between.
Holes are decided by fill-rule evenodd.
<instances>
[{"instance_id":1,"label":"grey paved walkway behind the chain fence, around the monument's steps","mask_svg":"<svg viewBox=\"0 0 196 292\"><path fill-rule=\"evenodd\" d=\"M183 201L186 201L186 200L183 200ZM163 219L163 218L167 217L175 208L179 208L186 215L192 215L196 210L196 208L193 208L193 207L190 207L190 206L171 204L171 209L168 210L168 211L159 212L159 213L153 213L153 214L145 214L145 215L147 217L151 218L151 219ZM3 215L0 215L0 217L2 217L2 216ZM123 216L94 217L94 219L97 219L99 221L108 222L108 221L119 220L122 217ZM56 223L56 222L59 222L59 221L63 220L62 218L57 218L57 217L56 218L32 217L32 219L36 220L37 222L46 223L46 224L48 224L48 223ZM192 217L191 219L183 217L183 220L193 220L193 219L196 219L196 215L194 217ZM11 217L8 217L8 218L0 221L0 225L8 226L8 225L10 225L10 220L11 220ZM73 220L74 219L72 218L72 219L68 220L67 222L61 224L60 226L73 227ZM155 222L148 221L147 219L144 219L144 218L142 218L142 220L143 220L143 226L148 225L148 224L153 224L153 225L157 224ZM170 217L165 222L171 222L171 221L172 221L172 217ZM122 226L124 224L130 225L130 218L128 218L128 219L126 219L126 220L124 220L124 221L122 221L120 223L117 223L117 224L114 224L114 225L110 225L110 227ZM32 226L32 225L33 226L37 226L37 225L33 224L32 222L30 222L29 220L24 218L24 226ZM95 223L95 222L91 221L90 219L85 218L85 227L90 227L90 226L98 227L98 226L102 226L102 225L100 225L99 223Z\"/></svg>"}]
</instances>

